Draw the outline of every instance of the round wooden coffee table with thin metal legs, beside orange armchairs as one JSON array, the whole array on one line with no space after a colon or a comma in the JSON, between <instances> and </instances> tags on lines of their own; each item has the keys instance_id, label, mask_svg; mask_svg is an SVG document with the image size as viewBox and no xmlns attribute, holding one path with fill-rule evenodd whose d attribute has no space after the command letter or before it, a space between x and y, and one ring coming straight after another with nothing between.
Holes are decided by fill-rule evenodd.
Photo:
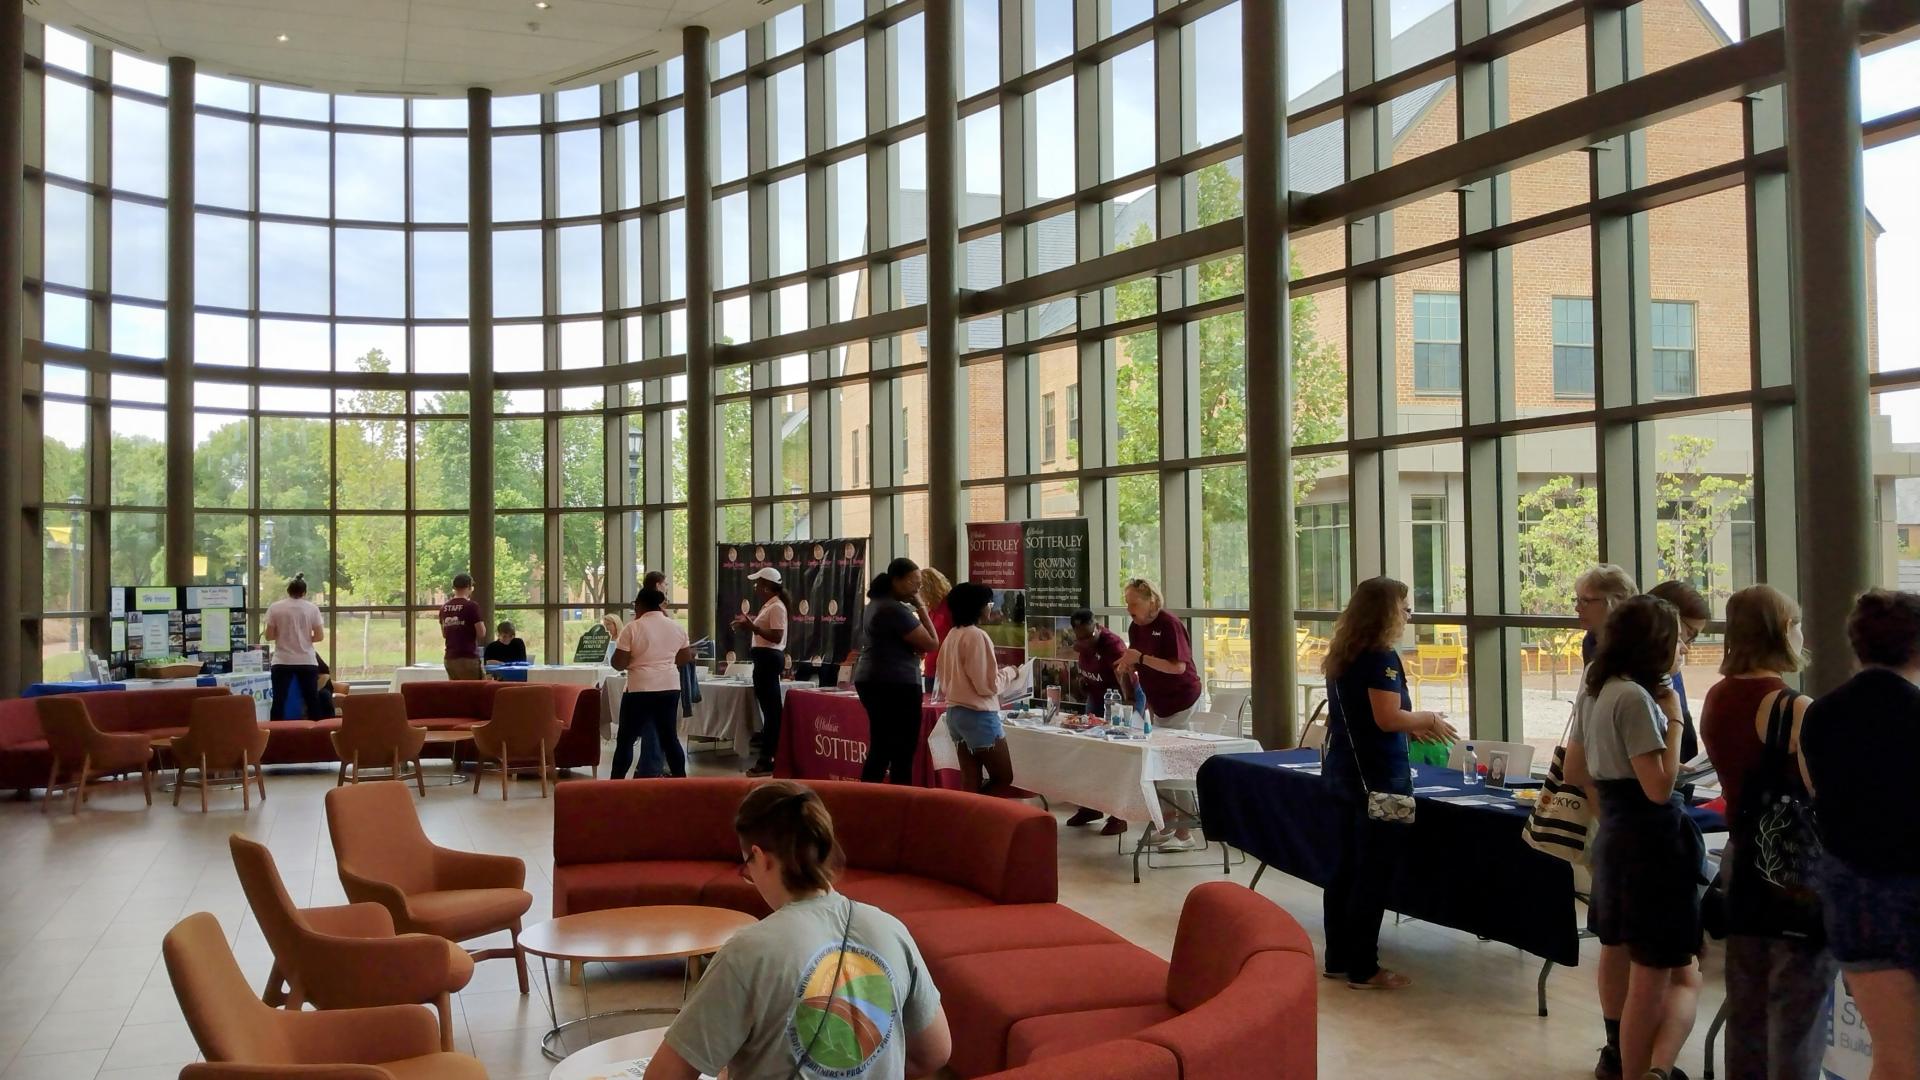
<instances>
[{"instance_id":1,"label":"round wooden coffee table with thin metal legs, beside orange armchairs","mask_svg":"<svg viewBox=\"0 0 1920 1080\"><path fill-rule=\"evenodd\" d=\"M589 963L634 963L634 961L687 961L687 980L697 976L697 963L720 951L733 934L753 926L756 919L726 907L659 905L659 907L611 907L607 911L586 911L563 915L551 922L540 922L520 932L520 947L541 957L540 978L547 986L547 1020L553 1028L540 1040L540 1049L553 1061L566 1055L566 1030L582 1024L588 1042L593 1040L593 1020L603 1017L630 1015L674 1015L680 1009L614 1009L595 1013L588 995L586 965ZM553 974L545 961L574 961L580 969L582 1015L566 1020L553 1009ZM637 1053L628 1057L641 1057ZM614 1059L624 1061L624 1059Z\"/></svg>"}]
</instances>

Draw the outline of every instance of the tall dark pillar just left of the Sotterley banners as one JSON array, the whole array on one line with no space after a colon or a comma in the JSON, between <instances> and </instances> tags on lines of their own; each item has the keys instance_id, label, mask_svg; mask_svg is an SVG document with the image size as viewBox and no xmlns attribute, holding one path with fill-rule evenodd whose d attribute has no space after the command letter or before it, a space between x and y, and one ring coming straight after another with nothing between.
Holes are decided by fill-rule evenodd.
<instances>
[{"instance_id":1,"label":"tall dark pillar just left of the Sotterley banners","mask_svg":"<svg viewBox=\"0 0 1920 1080\"><path fill-rule=\"evenodd\" d=\"M927 0L927 559L960 573L960 471L966 407L960 382L960 111L954 0Z\"/></svg>"}]
</instances>

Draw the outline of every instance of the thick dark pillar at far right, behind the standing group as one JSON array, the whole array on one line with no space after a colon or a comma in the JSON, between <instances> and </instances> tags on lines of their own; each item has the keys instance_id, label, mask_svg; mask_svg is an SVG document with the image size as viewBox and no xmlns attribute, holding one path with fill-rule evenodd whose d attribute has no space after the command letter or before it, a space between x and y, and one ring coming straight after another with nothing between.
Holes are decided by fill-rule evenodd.
<instances>
[{"instance_id":1,"label":"thick dark pillar at far right, behind the standing group","mask_svg":"<svg viewBox=\"0 0 1920 1080\"><path fill-rule=\"evenodd\" d=\"M1866 398L1866 206L1860 163L1859 8L1789 0L1788 211L1793 252L1793 417L1799 601L1807 690L1853 671L1847 611L1874 573L1874 465Z\"/></svg>"}]
</instances>

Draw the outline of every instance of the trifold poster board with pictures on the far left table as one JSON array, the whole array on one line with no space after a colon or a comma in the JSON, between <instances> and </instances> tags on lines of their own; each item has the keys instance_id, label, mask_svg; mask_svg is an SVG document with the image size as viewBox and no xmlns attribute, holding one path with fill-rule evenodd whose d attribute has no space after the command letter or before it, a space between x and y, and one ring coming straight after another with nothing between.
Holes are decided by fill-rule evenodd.
<instances>
[{"instance_id":1,"label":"trifold poster board with pictures on the far left table","mask_svg":"<svg viewBox=\"0 0 1920 1080\"><path fill-rule=\"evenodd\" d=\"M246 586L117 584L108 590L113 678L132 678L140 661L184 655L209 675L232 671L248 646Z\"/></svg>"}]
</instances>

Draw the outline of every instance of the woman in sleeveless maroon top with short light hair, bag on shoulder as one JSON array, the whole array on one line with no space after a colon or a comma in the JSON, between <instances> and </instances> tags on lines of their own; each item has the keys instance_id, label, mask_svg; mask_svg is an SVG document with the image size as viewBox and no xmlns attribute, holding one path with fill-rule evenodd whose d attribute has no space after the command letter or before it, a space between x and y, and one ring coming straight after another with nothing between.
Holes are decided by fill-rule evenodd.
<instances>
[{"instance_id":1,"label":"woman in sleeveless maroon top with short light hair, bag on shoulder","mask_svg":"<svg viewBox=\"0 0 1920 1080\"><path fill-rule=\"evenodd\" d=\"M1707 692L1699 734L1720 774L1726 819L1732 824L1724 863L1734 849L1753 844L1753 811L1745 799L1753 784L1797 784L1764 776L1766 726L1780 694L1791 694L1786 673L1801 667L1801 613L1789 596L1768 584L1743 588L1726 600L1724 676ZM1799 726L1809 698L1793 698L1789 748L1799 755ZM1738 890L1726 896L1726 1072L1766 1080L1818 1080L1826 1053L1820 1003L1834 986L1836 963L1826 942L1805 928L1770 926Z\"/></svg>"}]
</instances>

